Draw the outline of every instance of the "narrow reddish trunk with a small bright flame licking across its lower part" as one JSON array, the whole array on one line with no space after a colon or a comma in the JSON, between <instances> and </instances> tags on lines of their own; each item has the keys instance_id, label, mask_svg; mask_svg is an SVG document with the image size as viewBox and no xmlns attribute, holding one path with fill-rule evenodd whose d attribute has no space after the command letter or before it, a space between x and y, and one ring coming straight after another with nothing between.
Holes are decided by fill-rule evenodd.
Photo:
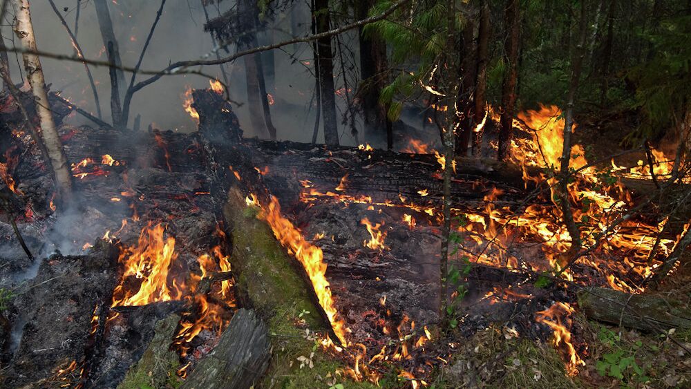
<instances>
[{"instance_id":1,"label":"narrow reddish trunk with a small bright flame licking across its lower part","mask_svg":"<svg viewBox=\"0 0 691 389\"><path fill-rule=\"evenodd\" d=\"M473 156L482 154L482 133L486 123L487 46L489 44L489 4L485 0L480 9L480 26L477 30L477 73L475 73L475 113L473 115Z\"/></svg>"}]
</instances>

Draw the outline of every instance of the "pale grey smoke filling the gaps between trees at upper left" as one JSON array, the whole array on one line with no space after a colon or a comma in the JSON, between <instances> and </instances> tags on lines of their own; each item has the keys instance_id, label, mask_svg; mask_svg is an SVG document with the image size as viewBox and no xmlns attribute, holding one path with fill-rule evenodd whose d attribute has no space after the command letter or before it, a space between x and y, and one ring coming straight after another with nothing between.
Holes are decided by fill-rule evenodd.
<instances>
[{"instance_id":1,"label":"pale grey smoke filling the gaps between trees at upper left","mask_svg":"<svg viewBox=\"0 0 691 389\"><path fill-rule=\"evenodd\" d=\"M77 3L75 0L55 0L55 5L73 32L75 30ZM91 1L81 1L80 3L77 40L84 50L84 56L88 59L106 60L95 7ZM211 35L204 31L205 14L201 3L201 1L167 2L142 62L143 70L162 69L175 61L201 59L203 57L213 59L215 57L213 54L209 55L212 52L213 44ZM234 7L236 2L220 1L219 3L218 5L214 3L207 6L209 17L217 17L225 10ZM30 6L39 50L73 55L74 49L68 34L50 7L50 3L44 0L32 1ZM134 66L140 56L146 36L149 34L160 1L111 0L108 2L108 6L120 46L122 62L126 66ZM217 6L219 8L216 8ZM299 1L292 3L288 10L290 13L278 12L274 19L267 23L267 30L258 34L260 44L283 41L290 37L309 33L310 10L307 3ZM6 45L12 47L12 40L15 37L9 26L12 18L11 12L8 12L6 18L6 26L1 28L1 32ZM349 80L351 84L348 85L348 88L351 90L350 98L353 99L352 93L357 89L357 85L354 85L357 82L357 77L352 77L352 75L359 75L357 31L343 35L341 39L343 44L350 46L352 53L355 53L351 56L350 62L345 64L351 75ZM334 44L334 46L336 45ZM228 49L230 53L235 52L234 46L230 46ZM219 53L220 55L228 55L224 50L220 50ZM268 69L265 70L265 75L267 93L271 94L274 99L271 113L274 126L278 130L278 138L280 140L310 142L316 118L312 47L310 44L285 46L282 50L274 50L272 54L274 56L275 77L272 77L272 72ZM270 55L269 53L263 54L265 68L269 66ZM12 79L19 83L21 79L18 64L21 63L21 56L16 58L10 53L10 62L12 62ZM46 75L46 83L51 84L51 90L61 91L61 94L70 99L71 102L96 115L93 93L82 64L46 57L41 58L41 63ZM343 88L339 61L334 61L334 66L336 88ZM219 66L204 66L197 70L223 80ZM261 129L254 129L249 120L243 59L225 64L225 71L229 76L229 91L232 99L242 104L234 108L240 120L240 126L245 130L245 136L267 137L267 134L263 133ZM111 86L108 68L91 66L91 72L97 85L104 120L111 122ZM130 77L130 73L125 73L127 82L129 82ZM142 81L146 77L149 76L138 75L135 82ZM141 115L141 129L144 131L149 124L158 129L182 132L196 131L195 122L182 108L182 95L187 87L207 88L208 86L209 80L199 75L162 77L157 82L135 93L129 115L129 127L133 126L133 121L139 114ZM345 97L337 95L337 104L337 110L341 114L347 111ZM80 115L70 117L68 123L95 126ZM361 127L360 124L356 124L362 134L362 129L359 128ZM354 137L350 135L349 124L340 123L339 133L341 133L341 144L354 145ZM318 142L323 142L321 128L317 139ZM363 142L362 136L360 140Z\"/></svg>"}]
</instances>

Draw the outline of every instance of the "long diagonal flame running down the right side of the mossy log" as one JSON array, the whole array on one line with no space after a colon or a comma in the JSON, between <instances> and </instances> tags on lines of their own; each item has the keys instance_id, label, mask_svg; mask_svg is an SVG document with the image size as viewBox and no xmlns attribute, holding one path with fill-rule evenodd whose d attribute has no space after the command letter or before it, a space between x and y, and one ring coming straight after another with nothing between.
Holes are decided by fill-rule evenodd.
<instances>
[{"instance_id":1,"label":"long diagonal flame running down the right side of the mossy log","mask_svg":"<svg viewBox=\"0 0 691 389\"><path fill-rule=\"evenodd\" d=\"M251 196L252 199L247 197L245 201L249 200L253 205L258 204L256 196L254 194ZM274 231L276 239L281 242L289 254L294 255L303 265L307 276L312 281L314 292L319 298L319 304L331 322L334 333L339 337L341 343L347 344L345 341L345 322L339 318L329 282L326 280L327 265L324 263L324 254L321 249L307 242L301 231L296 229L290 220L281 215L281 205L278 204L278 200L274 196L271 197L268 207L262 208L257 217L266 220Z\"/></svg>"}]
</instances>

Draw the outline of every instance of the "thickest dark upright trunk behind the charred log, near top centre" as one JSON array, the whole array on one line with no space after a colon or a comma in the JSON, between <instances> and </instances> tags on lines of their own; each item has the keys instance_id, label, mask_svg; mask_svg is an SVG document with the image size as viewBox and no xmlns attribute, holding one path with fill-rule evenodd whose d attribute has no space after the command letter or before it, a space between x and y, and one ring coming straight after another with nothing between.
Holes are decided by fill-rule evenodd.
<instances>
[{"instance_id":1,"label":"thickest dark upright trunk behind the charred log, near top centre","mask_svg":"<svg viewBox=\"0 0 691 389\"><path fill-rule=\"evenodd\" d=\"M367 12L375 1L368 0L359 4L358 17L364 19L367 17ZM365 137L370 134L378 133L383 129L387 130L387 146L388 145L390 120L386 115L386 107L379 104L379 96L381 89L383 89L388 77L388 61L386 58L386 42L381 37L363 34L363 28L360 28L360 77L361 84L358 91L358 96L361 101L363 124L365 127ZM391 138L393 133L391 133ZM393 143L393 139L391 139Z\"/></svg>"}]
</instances>

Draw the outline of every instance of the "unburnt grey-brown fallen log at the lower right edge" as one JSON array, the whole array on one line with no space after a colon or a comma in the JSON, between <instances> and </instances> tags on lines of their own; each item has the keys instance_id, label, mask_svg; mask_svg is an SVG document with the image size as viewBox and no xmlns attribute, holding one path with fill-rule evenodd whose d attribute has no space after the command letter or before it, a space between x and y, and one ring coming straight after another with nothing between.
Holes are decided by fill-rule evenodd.
<instances>
[{"instance_id":1,"label":"unburnt grey-brown fallen log at the lower right edge","mask_svg":"<svg viewBox=\"0 0 691 389\"><path fill-rule=\"evenodd\" d=\"M589 319L626 328L647 332L691 328L691 310L665 298L590 287L578 292L578 305Z\"/></svg>"}]
</instances>

